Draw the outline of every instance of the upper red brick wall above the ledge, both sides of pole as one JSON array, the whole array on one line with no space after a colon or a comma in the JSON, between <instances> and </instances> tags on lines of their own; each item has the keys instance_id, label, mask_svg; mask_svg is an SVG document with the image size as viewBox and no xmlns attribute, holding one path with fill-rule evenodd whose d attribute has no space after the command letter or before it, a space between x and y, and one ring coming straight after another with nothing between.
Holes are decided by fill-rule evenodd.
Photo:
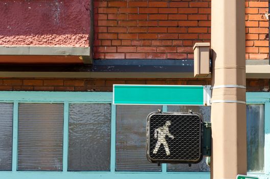
<instances>
[{"instance_id":1,"label":"upper red brick wall above the ledge, both sides of pole","mask_svg":"<svg viewBox=\"0 0 270 179\"><path fill-rule=\"evenodd\" d=\"M192 59L210 41L210 0L94 0L94 58ZM246 59L268 58L267 0L246 0Z\"/></svg>"}]
</instances>

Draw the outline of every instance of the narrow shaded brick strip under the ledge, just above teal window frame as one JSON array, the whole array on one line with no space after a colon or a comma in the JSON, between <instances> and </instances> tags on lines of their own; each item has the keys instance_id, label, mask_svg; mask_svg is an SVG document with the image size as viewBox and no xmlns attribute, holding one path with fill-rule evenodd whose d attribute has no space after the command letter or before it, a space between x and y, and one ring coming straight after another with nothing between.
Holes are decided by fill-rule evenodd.
<instances>
[{"instance_id":1,"label":"narrow shaded brick strip under the ledge, just above teal window frame","mask_svg":"<svg viewBox=\"0 0 270 179\"><path fill-rule=\"evenodd\" d=\"M113 84L211 85L210 79L1 78L0 91L111 92ZM248 92L269 92L269 79L247 79Z\"/></svg>"}]
</instances>

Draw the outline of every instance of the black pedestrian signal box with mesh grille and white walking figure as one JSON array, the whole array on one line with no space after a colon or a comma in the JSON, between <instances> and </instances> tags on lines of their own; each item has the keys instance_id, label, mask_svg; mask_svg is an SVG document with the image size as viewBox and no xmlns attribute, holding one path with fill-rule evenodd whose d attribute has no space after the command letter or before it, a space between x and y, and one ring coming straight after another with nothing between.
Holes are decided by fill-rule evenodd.
<instances>
[{"instance_id":1,"label":"black pedestrian signal box with mesh grille and white walking figure","mask_svg":"<svg viewBox=\"0 0 270 179\"><path fill-rule=\"evenodd\" d=\"M197 115L156 114L148 119L148 152L153 161L196 163L201 159L201 119Z\"/></svg>"}]
</instances>

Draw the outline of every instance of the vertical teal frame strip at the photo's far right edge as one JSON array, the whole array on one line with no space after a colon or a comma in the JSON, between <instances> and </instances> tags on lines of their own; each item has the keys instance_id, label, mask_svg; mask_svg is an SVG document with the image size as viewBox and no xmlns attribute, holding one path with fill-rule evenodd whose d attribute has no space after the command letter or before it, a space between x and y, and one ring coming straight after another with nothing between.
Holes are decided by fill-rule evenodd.
<instances>
[{"instance_id":1,"label":"vertical teal frame strip at the photo's far right edge","mask_svg":"<svg viewBox=\"0 0 270 179\"><path fill-rule=\"evenodd\" d=\"M270 174L270 102L264 104L264 173Z\"/></svg>"}]
</instances>

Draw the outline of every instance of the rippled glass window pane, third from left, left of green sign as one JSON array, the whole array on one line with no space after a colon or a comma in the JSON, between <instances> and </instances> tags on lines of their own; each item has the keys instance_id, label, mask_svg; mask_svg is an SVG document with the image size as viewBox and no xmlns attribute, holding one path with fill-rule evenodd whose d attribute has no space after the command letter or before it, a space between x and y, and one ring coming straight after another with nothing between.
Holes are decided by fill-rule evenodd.
<instances>
[{"instance_id":1,"label":"rippled glass window pane, third from left, left of green sign","mask_svg":"<svg viewBox=\"0 0 270 179\"><path fill-rule=\"evenodd\" d=\"M110 170L110 104L70 104L69 171Z\"/></svg>"}]
</instances>

